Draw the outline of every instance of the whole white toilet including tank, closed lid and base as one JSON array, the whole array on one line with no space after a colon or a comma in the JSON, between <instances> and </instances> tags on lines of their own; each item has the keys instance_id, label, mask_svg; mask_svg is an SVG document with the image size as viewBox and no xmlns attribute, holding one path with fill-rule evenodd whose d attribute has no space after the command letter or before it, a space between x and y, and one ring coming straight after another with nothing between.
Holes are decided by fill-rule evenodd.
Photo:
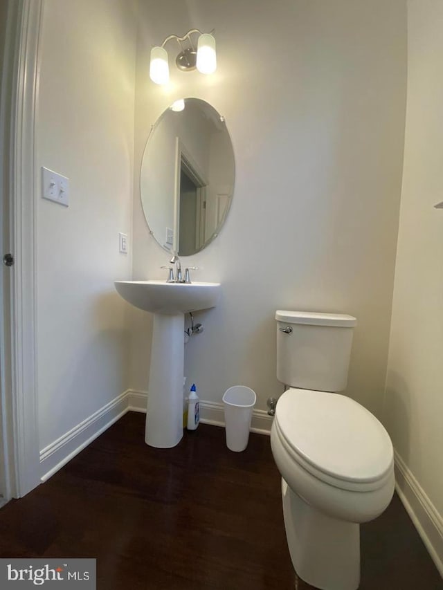
<instances>
[{"instance_id":1,"label":"whole white toilet including tank, closed lid and base","mask_svg":"<svg viewBox=\"0 0 443 590\"><path fill-rule=\"evenodd\" d=\"M321 590L356 590L360 523L394 493L394 452L383 425L343 396L355 317L277 311L280 396L271 449L282 476L284 528L293 567Z\"/></svg>"}]
</instances>

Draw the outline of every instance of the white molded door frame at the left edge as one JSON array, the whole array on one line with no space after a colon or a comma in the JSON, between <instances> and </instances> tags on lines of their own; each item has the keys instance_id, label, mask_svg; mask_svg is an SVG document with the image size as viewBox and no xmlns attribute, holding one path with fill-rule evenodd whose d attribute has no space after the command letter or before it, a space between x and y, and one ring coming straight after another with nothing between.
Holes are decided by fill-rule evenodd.
<instances>
[{"instance_id":1,"label":"white molded door frame at the left edge","mask_svg":"<svg viewBox=\"0 0 443 590\"><path fill-rule=\"evenodd\" d=\"M8 223L9 251L15 265L10 267L8 281L3 285L3 289L8 288L4 293L8 296L3 297L2 310L6 320L3 325L10 324L1 350L3 366L10 366L10 378L1 387L6 499L24 496L40 483L35 123L43 8L44 0L8 1L6 47L12 84L8 111L9 190L3 194L9 216L3 223Z\"/></svg>"}]
</instances>

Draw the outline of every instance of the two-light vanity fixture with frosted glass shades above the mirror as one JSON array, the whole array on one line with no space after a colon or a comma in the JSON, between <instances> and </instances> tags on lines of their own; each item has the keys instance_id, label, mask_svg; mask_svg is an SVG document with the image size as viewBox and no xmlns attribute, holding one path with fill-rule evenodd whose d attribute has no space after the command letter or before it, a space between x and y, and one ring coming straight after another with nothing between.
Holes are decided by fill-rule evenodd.
<instances>
[{"instance_id":1,"label":"two-light vanity fixture with frosted glass shades above the mirror","mask_svg":"<svg viewBox=\"0 0 443 590\"><path fill-rule=\"evenodd\" d=\"M177 68L183 72L197 70L202 74L212 74L217 69L217 56L215 55L215 39L210 33L201 33L197 28L193 28L183 37L170 35L166 37L160 46L153 47L151 50L150 78L156 84L167 84L169 82L169 64L168 53L165 50L165 44L170 39L176 39L181 48L177 55L175 63ZM192 35L198 34L197 48L192 42Z\"/></svg>"}]
</instances>

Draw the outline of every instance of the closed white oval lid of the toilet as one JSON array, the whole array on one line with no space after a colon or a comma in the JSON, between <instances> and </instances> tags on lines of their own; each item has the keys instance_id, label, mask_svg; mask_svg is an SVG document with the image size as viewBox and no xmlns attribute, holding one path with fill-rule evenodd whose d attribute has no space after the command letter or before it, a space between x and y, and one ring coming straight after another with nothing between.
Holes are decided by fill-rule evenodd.
<instances>
[{"instance_id":1,"label":"closed white oval lid of the toilet","mask_svg":"<svg viewBox=\"0 0 443 590\"><path fill-rule=\"evenodd\" d=\"M383 425L367 409L340 394L289 389L275 419L294 454L309 469L356 483L381 479L393 450Z\"/></svg>"}]
</instances>

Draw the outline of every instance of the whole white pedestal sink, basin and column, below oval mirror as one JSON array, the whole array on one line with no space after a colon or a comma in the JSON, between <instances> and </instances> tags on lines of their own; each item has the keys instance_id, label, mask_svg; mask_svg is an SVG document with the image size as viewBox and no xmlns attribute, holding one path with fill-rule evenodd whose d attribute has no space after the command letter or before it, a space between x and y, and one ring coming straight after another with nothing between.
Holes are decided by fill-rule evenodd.
<instances>
[{"instance_id":1,"label":"whole white pedestal sink, basin and column, below oval mirror","mask_svg":"<svg viewBox=\"0 0 443 590\"><path fill-rule=\"evenodd\" d=\"M214 307L219 283L116 281L119 295L154 313L145 442L171 448L183 436L183 356L185 313Z\"/></svg>"}]
</instances>

